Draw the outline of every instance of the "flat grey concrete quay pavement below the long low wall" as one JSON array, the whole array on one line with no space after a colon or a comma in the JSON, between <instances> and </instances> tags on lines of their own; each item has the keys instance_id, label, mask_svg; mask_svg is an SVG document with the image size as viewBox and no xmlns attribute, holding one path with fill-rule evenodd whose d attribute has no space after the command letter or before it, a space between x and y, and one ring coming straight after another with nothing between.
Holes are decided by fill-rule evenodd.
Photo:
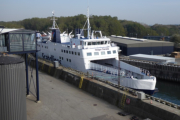
<instances>
[{"instance_id":1,"label":"flat grey concrete quay pavement below the long low wall","mask_svg":"<svg viewBox=\"0 0 180 120\"><path fill-rule=\"evenodd\" d=\"M27 120L130 120L134 116L120 116L122 109L46 73L39 72L39 82L40 102L32 94L26 99ZM35 94L32 81L30 90Z\"/></svg>"}]
</instances>

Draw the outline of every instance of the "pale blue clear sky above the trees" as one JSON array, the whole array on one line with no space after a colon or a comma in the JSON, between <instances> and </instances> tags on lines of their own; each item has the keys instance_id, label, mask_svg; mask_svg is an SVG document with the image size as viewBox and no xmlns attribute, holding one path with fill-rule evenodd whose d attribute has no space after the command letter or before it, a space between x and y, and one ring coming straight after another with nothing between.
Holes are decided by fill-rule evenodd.
<instances>
[{"instance_id":1,"label":"pale blue clear sky above the trees","mask_svg":"<svg viewBox=\"0 0 180 120\"><path fill-rule=\"evenodd\" d=\"M180 24L180 0L0 0L0 21L27 18L110 15L148 25ZM92 18L93 19L93 18Z\"/></svg>"}]
</instances>

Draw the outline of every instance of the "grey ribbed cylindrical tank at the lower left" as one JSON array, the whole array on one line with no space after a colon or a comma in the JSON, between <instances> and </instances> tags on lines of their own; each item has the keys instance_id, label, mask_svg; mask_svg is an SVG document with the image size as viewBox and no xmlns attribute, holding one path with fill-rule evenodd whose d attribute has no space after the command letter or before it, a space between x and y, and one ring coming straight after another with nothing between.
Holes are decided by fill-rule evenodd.
<instances>
[{"instance_id":1,"label":"grey ribbed cylindrical tank at the lower left","mask_svg":"<svg viewBox=\"0 0 180 120\"><path fill-rule=\"evenodd\" d=\"M26 120L24 60L0 56L0 120Z\"/></svg>"}]
</instances>

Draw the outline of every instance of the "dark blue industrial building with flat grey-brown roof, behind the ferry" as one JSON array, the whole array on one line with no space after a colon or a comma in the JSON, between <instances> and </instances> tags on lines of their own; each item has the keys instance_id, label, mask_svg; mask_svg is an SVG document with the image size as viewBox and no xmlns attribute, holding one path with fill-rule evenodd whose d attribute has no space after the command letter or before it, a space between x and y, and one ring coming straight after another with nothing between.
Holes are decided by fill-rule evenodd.
<instances>
[{"instance_id":1,"label":"dark blue industrial building with flat grey-brown roof, behind the ferry","mask_svg":"<svg viewBox=\"0 0 180 120\"><path fill-rule=\"evenodd\" d=\"M112 35L112 42L122 50L121 54L129 56L133 54L162 55L174 51L174 43L140 38L122 37Z\"/></svg>"}]
</instances>

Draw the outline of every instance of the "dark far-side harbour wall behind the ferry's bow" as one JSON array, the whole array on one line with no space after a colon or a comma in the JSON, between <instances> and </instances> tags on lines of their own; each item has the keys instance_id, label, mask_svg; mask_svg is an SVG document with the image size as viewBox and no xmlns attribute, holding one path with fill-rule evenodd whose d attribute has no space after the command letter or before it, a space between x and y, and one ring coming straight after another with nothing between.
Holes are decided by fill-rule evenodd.
<instances>
[{"instance_id":1,"label":"dark far-side harbour wall behind the ferry's bow","mask_svg":"<svg viewBox=\"0 0 180 120\"><path fill-rule=\"evenodd\" d=\"M175 65L158 65L152 62L144 62L138 60L121 59L122 61L149 70L151 75L156 76L158 79L180 83L180 66Z\"/></svg>"}]
</instances>

